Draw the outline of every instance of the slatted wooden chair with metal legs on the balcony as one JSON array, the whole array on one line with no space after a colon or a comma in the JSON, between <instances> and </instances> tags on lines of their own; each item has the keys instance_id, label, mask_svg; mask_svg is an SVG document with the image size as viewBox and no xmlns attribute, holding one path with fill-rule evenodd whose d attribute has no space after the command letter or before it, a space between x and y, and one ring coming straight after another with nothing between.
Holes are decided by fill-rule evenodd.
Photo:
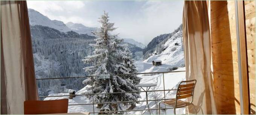
<instances>
[{"instance_id":1,"label":"slatted wooden chair with metal legs on the balcony","mask_svg":"<svg viewBox=\"0 0 256 115\"><path fill-rule=\"evenodd\" d=\"M186 84L184 84L184 83L186 83ZM178 85L176 98L160 102L158 105L158 114L160 114L160 104L161 103L166 106L173 107L174 114L176 114L176 108L183 108L183 107L186 107L189 105L193 105L195 114L197 114L195 105L192 103L196 83L197 83L197 80L181 81L180 84ZM188 97L192 97L192 100L190 102L180 100L180 99L186 99Z\"/></svg>"}]
</instances>

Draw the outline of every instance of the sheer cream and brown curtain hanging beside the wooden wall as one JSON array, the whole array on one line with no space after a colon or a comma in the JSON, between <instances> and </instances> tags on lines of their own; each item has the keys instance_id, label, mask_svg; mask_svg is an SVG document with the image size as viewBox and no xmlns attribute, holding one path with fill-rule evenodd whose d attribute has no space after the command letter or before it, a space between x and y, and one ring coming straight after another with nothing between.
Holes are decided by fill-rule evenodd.
<instances>
[{"instance_id":1,"label":"sheer cream and brown curtain hanging beside the wooden wall","mask_svg":"<svg viewBox=\"0 0 256 115\"><path fill-rule=\"evenodd\" d=\"M197 80L197 114L217 114L211 75L210 28L206 1L184 1L183 41L186 79Z\"/></svg>"}]
</instances>

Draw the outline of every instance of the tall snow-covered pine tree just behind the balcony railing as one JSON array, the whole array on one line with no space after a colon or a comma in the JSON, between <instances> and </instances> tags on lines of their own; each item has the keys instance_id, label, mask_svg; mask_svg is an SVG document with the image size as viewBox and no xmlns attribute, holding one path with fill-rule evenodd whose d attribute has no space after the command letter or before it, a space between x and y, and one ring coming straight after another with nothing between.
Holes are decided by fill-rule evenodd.
<instances>
[{"instance_id":1,"label":"tall snow-covered pine tree just behind the balcony railing","mask_svg":"<svg viewBox=\"0 0 256 115\"><path fill-rule=\"evenodd\" d=\"M92 78L85 79L84 84L89 85L86 94L91 93L114 93L114 92L130 92L140 91L135 85L140 82L137 76L125 76L120 74L127 74L136 72L125 64L125 60L131 57L125 56L124 46L120 43L122 39L117 39L117 35L111 35L110 32L115 30L114 23L108 22L108 13L104 11L104 15L99 18L102 24L101 28L94 31L93 34L97 37L94 39L95 44L90 44L95 48L94 55L85 57L82 61L90 63L93 66L85 67L85 72L90 73ZM133 65L133 61L130 65ZM98 76L106 75L107 78L100 78ZM134 78L131 78L134 77ZM133 82L131 81L133 80ZM93 82L93 84L92 84ZM88 96L92 100L91 96ZM94 103L104 102L125 102L136 101L140 98L139 93L120 93L120 94L101 94L94 96ZM123 110L123 105L131 103L118 103L118 104L103 104L101 111L120 111ZM98 105L99 106L99 105ZM104 113L104 114L123 114L120 113Z\"/></svg>"}]
</instances>

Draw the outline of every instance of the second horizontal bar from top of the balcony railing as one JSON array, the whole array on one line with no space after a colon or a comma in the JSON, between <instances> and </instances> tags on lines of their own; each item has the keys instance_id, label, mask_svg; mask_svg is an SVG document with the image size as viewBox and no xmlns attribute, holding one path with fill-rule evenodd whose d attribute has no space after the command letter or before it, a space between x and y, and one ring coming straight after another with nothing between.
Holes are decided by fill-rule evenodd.
<instances>
[{"instance_id":1,"label":"second horizontal bar from top of the balcony railing","mask_svg":"<svg viewBox=\"0 0 256 115\"><path fill-rule=\"evenodd\" d=\"M152 90L148 92L155 92L155 91L174 91L173 90ZM65 97L65 96L90 96L90 95L101 95L101 94L120 94L120 93L141 93L145 91L130 91L130 92L113 92L113 93L94 93L94 94L75 94L75 95L62 95L62 96L39 96L39 98L44 98L44 97Z\"/></svg>"}]
</instances>

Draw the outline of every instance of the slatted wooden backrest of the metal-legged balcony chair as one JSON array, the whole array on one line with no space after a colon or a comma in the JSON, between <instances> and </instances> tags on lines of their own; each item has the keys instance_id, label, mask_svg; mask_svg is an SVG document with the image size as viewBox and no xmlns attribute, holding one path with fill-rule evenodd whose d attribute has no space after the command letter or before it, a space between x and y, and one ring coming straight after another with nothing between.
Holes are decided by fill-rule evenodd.
<instances>
[{"instance_id":1,"label":"slatted wooden backrest of the metal-legged balcony chair","mask_svg":"<svg viewBox=\"0 0 256 115\"><path fill-rule=\"evenodd\" d=\"M177 99L184 99L188 97L192 97L192 101L193 101L194 89L195 89L196 83L197 83L197 80L181 81L180 84L178 85L178 89L176 93L176 101Z\"/></svg>"}]
</instances>

